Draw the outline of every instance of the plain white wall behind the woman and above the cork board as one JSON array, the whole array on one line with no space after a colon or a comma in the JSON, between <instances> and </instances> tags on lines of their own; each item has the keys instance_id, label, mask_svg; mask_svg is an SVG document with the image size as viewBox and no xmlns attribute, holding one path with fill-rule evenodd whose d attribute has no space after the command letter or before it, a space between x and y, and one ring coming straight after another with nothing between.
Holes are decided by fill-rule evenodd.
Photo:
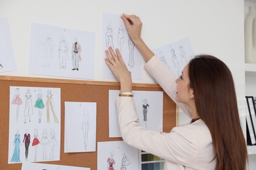
<instances>
[{"instance_id":1,"label":"plain white wall behind the woman and above the cork board","mask_svg":"<svg viewBox=\"0 0 256 170\"><path fill-rule=\"evenodd\" d=\"M195 54L212 54L230 67L234 76L240 115L245 113L244 1L243 0L0 0L0 16L9 19L17 71L28 74L30 22L96 33L95 80L102 80L102 12L137 14L142 37L150 48L190 37ZM144 72L136 82L152 83ZM180 116L180 124L186 122Z\"/></svg>"}]
</instances>

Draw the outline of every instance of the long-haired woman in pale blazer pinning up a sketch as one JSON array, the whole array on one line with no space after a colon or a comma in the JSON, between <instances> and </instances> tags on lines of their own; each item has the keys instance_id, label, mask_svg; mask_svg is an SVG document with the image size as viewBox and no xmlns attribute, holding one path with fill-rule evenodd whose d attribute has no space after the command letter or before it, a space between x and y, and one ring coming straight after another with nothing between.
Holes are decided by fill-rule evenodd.
<instances>
[{"instance_id":1,"label":"long-haired woman in pale blazer pinning up a sketch","mask_svg":"<svg viewBox=\"0 0 256 170\"><path fill-rule=\"evenodd\" d=\"M170 133L140 127L131 93L131 73L119 50L115 53L109 48L105 62L121 84L116 102L123 140L164 158L164 169L245 169L247 150L228 67L213 56L196 56L175 80L174 74L142 41L139 17L123 14L121 18L146 61L146 70L191 118L190 124L174 127Z\"/></svg>"}]
</instances>

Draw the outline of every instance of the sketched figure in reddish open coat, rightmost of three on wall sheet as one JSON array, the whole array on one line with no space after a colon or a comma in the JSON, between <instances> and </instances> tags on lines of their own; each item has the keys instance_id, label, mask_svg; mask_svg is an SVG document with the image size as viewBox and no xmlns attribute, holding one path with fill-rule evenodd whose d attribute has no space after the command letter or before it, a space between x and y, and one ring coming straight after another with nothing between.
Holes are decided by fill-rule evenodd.
<instances>
[{"instance_id":1,"label":"sketched figure in reddish open coat, rightmost of three on wall sheet","mask_svg":"<svg viewBox=\"0 0 256 170\"><path fill-rule=\"evenodd\" d=\"M79 70L79 61L81 61L81 44L77 42L77 38L74 38L74 43L72 44L72 70Z\"/></svg>"}]
</instances>

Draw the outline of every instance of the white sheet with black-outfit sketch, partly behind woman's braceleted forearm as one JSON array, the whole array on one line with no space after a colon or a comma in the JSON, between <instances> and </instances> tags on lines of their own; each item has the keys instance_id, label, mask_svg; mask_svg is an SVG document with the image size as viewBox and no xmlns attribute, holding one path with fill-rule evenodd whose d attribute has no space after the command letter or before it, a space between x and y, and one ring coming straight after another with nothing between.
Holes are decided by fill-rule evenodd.
<instances>
[{"instance_id":1,"label":"white sheet with black-outfit sketch, partly behind woman's braceleted forearm","mask_svg":"<svg viewBox=\"0 0 256 170\"><path fill-rule=\"evenodd\" d=\"M121 137L116 98L119 90L109 91L109 137ZM154 131L163 131L163 92L133 90L135 107L140 126Z\"/></svg>"}]
</instances>

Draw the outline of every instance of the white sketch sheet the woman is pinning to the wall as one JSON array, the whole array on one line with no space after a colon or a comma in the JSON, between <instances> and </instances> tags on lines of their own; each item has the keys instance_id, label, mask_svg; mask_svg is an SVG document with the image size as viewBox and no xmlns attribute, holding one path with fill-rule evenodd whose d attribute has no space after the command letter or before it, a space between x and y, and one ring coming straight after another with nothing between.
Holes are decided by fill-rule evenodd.
<instances>
[{"instance_id":1,"label":"white sketch sheet the woman is pinning to the wall","mask_svg":"<svg viewBox=\"0 0 256 170\"><path fill-rule=\"evenodd\" d=\"M125 24L120 17L120 14L103 14L103 61L106 58L105 50L109 46L114 49L118 48L123 61L131 71L133 80L142 80L142 56L129 38ZM108 65L105 62L103 63L103 77L116 80Z\"/></svg>"}]
</instances>

